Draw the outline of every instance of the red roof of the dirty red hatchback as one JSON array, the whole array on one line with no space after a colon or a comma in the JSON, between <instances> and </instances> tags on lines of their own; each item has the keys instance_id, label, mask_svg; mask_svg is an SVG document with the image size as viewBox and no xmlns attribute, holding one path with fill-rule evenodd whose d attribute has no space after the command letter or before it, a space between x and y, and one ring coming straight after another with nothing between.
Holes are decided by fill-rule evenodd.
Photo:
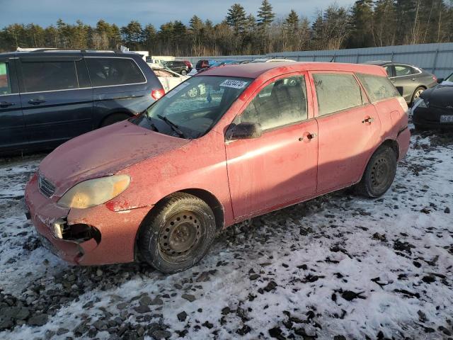
<instances>
[{"instance_id":1,"label":"red roof of the dirty red hatchback","mask_svg":"<svg viewBox=\"0 0 453 340\"><path fill-rule=\"evenodd\" d=\"M243 77L256 79L267 72L273 75L297 71L343 71L385 76L382 67L370 64L342 64L338 62L256 62L224 65L200 72L200 76Z\"/></svg>"}]
</instances>

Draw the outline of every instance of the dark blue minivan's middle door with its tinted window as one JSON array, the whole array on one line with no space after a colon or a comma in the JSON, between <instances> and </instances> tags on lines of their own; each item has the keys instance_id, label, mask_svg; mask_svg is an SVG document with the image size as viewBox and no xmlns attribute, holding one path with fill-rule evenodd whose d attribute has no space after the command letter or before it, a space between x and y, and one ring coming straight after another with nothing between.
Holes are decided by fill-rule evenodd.
<instances>
[{"instance_id":1,"label":"dark blue minivan's middle door with its tinted window","mask_svg":"<svg viewBox=\"0 0 453 340\"><path fill-rule=\"evenodd\" d=\"M30 145L54 147L92 130L93 89L75 57L21 57L21 103Z\"/></svg>"}]
</instances>

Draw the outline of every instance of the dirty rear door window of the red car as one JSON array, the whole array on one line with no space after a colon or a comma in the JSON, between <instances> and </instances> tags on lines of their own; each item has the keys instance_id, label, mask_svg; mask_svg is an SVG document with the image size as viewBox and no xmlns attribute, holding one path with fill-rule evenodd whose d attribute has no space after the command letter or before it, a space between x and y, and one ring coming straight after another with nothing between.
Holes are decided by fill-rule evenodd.
<instances>
[{"instance_id":1,"label":"dirty rear door window of the red car","mask_svg":"<svg viewBox=\"0 0 453 340\"><path fill-rule=\"evenodd\" d=\"M319 115L361 106L362 89L352 74L314 74Z\"/></svg>"}]
</instances>

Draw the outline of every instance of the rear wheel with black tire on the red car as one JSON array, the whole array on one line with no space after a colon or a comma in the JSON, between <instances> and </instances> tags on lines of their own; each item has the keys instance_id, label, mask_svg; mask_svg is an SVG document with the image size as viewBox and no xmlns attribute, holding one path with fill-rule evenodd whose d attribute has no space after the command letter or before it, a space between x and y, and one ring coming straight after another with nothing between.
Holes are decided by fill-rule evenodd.
<instances>
[{"instance_id":1,"label":"rear wheel with black tire on the red car","mask_svg":"<svg viewBox=\"0 0 453 340\"><path fill-rule=\"evenodd\" d=\"M368 198L384 195L394 181L396 162L394 149L379 147L369 159L362 180L356 186L356 192Z\"/></svg>"}]
</instances>

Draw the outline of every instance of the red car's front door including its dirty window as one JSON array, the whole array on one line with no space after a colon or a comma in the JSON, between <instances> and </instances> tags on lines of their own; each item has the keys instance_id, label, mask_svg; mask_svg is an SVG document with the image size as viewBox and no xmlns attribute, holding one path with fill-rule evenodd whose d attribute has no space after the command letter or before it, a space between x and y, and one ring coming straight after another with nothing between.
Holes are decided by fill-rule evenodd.
<instances>
[{"instance_id":1,"label":"red car's front door including its dirty window","mask_svg":"<svg viewBox=\"0 0 453 340\"><path fill-rule=\"evenodd\" d=\"M277 208L316 191L318 132L306 75L263 85L234 124L259 123L263 135L226 142L234 217ZM308 91L310 94L311 92Z\"/></svg>"}]
</instances>

